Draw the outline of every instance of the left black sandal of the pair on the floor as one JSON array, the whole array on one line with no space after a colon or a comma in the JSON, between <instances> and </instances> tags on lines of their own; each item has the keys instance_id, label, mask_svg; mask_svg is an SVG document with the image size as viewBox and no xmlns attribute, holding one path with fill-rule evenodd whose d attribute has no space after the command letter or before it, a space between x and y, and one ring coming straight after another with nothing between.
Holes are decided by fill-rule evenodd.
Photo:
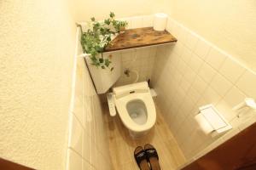
<instances>
[{"instance_id":1,"label":"left black sandal of the pair on the floor","mask_svg":"<svg viewBox=\"0 0 256 170\"><path fill-rule=\"evenodd\" d=\"M143 150L142 146L138 146L134 150L134 158L137 162L137 166L140 167L141 170L150 170L148 167L146 152Z\"/></svg>"}]
</instances>

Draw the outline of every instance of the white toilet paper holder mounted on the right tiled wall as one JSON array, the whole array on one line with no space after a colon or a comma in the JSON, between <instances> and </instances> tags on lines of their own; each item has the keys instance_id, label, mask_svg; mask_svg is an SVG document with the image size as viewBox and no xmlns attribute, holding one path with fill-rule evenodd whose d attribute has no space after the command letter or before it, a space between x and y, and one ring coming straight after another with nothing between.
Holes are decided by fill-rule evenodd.
<instances>
[{"instance_id":1,"label":"white toilet paper holder mounted on the right tiled wall","mask_svg":"<svg viewBox=\"0 0 256 170\"><path fill-rule=\"evenodd\" d=\"M195 116L201 130L206 133L218 134L230 130L232 127L214 107L214 105L205 105L199 108L199 114Z\"/></svg>"}]
</instances>

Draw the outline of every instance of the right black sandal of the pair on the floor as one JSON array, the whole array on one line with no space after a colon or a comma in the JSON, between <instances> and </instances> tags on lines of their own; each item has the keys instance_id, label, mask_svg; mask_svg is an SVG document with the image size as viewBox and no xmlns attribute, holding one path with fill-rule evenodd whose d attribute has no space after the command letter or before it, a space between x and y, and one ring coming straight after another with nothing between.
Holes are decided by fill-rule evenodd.
<instances>
[{"instance_id":1,"label":"right black sandal of the pair on the floor","mask_svg":"<svg viewBox=\"0 0 256 170\"><path fill-rule=\"evenodd\" d=\"M152 170L160 170L159 157L157 151L154 146L151 144L145 144L144 150L147 155L147 160L150 163L150 167Z\"/></svg>"}]
</instances>

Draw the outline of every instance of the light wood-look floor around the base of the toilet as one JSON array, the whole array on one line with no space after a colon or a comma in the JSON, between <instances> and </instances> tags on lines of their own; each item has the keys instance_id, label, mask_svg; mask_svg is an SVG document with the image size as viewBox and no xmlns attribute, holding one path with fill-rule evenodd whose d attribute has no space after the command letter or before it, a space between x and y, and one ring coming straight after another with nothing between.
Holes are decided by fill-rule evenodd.
<instances>
[{"instance_id":1,"label":"light wood-look floor around the base of the toilet","mask_svg":"<svg viewBox=\"0 0 256 170\"><path fill-rule=\"evenodd\" d=\"M160 157L161 170L176 169L185 158L172 132L156 106L157 121L150 132L141 139L132 139L119 116L111 117L108 105L104 105L105 121L108 123L108 142L114 170L137 170L133 151L138 145L153 144Z\"/></svg>"}]
</instances>

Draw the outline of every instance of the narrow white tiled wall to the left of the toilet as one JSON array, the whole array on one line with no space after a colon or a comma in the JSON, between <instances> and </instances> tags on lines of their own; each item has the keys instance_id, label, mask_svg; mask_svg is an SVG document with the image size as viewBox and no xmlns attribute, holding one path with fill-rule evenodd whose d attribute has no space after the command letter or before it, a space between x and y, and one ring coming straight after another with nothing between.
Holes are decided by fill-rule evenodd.
<instances>
[{"instance_id":1,"label":"narrow white tiled wall to the left of the toilet","mask_svg":"<svg viewBox=\"0 0 256 170\"><path fill-rule=\"evenodd\" d=\"M78 54L82 54L81 48ZM67 148L67 170L112 170L102 105L85 66L77 56Z\"/></svg>"}]
</instances>

